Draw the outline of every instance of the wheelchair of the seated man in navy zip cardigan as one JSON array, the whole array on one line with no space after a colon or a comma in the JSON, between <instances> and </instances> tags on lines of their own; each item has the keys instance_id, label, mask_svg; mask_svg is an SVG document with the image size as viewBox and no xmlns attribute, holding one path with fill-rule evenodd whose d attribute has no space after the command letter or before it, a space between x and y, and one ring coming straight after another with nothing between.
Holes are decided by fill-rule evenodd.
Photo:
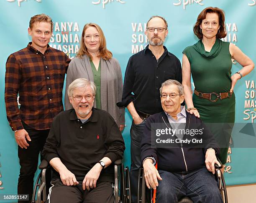
<instances>
[{"instance_id":1,"label":"wheelchair of the seated man in navy zip cardigan","mask_svg":"<svg viewBox=\"0 0 256 203\"><path fill-rule=\"evenodd\" d=\"M227 188L226 188L223 173L220 170L222 167L223 167L222 164L221 164L221 166L218 166L217 164L215 164L215 179L218 182L218 188L220 190L223 202L228 203ZM149 203L149 202L146 202L146 200L153 203L154 202L153 201L154 190L147 188L143 168L140 168L138 177L139 177L139 179L138 179L138 203ZM189 197L184 196L179 200L179 203L193 203L193 201Z\"/></svg>"}]
</instances>

